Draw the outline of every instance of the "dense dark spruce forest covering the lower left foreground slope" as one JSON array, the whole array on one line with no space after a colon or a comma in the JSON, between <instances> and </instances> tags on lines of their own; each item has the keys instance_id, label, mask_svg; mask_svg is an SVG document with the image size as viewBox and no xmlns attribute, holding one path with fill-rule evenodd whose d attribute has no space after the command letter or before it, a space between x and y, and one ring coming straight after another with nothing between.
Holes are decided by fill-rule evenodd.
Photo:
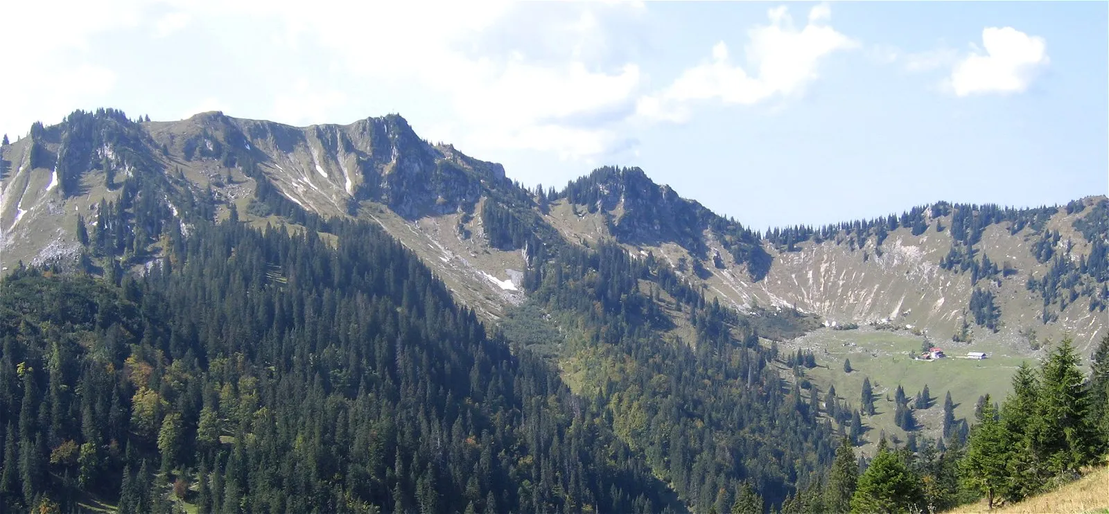
<instances>
[{"instance_id":1,"label":"dense dark spruce forest covering the lower left foreground slope","mask_svg":"<svg viewBox=\"0 0 1109 514\"><path fill-rule=\"evenodd\" d=\"M665 487L368 225L197 223L167 265L0 292L4 512L659 512ZM196 484L190 491L190 484ZM49 508L47 508L49 510Z\"/></svg>"}]
</instances>

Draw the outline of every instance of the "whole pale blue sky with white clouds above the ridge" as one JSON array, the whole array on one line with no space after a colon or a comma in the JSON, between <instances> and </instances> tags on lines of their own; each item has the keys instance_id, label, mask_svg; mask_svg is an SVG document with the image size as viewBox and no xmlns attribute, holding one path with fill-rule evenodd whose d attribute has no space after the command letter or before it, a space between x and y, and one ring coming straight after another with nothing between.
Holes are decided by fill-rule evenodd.
<instances>
[{"instance_id":1,"label":"whole pale blue sky with white clouds above the ridge","mask_svg":"<svg viewBox=\"0 0 1109 514\"><path fill-rule=\"evenodd\" d=\"M0 132L399 113L531 187L640 166L755 229L1050 205L1109 189L1107 28L1107 2L40 0L0 10Z\"/></svg>"}]
</instances>

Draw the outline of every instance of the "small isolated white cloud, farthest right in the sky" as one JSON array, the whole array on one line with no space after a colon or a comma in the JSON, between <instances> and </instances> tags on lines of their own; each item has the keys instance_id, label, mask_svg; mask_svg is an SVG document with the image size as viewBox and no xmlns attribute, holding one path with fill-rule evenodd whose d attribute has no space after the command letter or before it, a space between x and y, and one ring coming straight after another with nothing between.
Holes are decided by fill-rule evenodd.
<instances>
[{"instance_id":1,"label":"small isolated white cloud, farthest right in the sky","mask_svg":"<svg viewBox=\"0 0 1109 514\"><path fill-rule=\"evenodd\" d=\"M984 51L975 49L955 64L947 80L957 96L1024 92L1049 60L1044 38L1011 27L981 31Z\"/></svg>"}]
</instances>

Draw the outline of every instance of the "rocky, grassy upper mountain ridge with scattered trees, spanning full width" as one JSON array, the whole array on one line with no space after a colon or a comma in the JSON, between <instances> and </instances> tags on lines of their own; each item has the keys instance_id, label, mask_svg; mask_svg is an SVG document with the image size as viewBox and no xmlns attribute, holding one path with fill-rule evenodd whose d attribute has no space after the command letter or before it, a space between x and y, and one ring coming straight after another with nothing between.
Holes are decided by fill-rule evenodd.
<instances>
[{"instance_id":1,"label":"rocky, grassy upper mountain ridge with scattered trees, spanning full width","mask_svg":"<svg viewBox=\"0 0 1109 514\"><path fill-rule=\"evenodd\" d=\"M895 326L1021 353L1064 333L1085 350L1109 326L1103 196L1022 210L939 203L757 234L638 168L602 168L562 192L531 192L498 164L421 140L398 115L293 127L218 112L177 122L75 112L59 125L35 124L0 158L6 270L79 263L79 220L94 230L101 202L120 198L119 182L147 173L164 187L140 196L160 195L147 205L172 216L189 208L189 195L211 194L221 204L215 216L234 210L295 228L295 217L258 202L279 195L322 215L373 219L488 319L526 300L529 246L561 237L613 238L632 255L668 260L722 304L796 309L827 326ZM159 248L144 255L129 264L159 258Z\"/></svg>"}]
</instances>

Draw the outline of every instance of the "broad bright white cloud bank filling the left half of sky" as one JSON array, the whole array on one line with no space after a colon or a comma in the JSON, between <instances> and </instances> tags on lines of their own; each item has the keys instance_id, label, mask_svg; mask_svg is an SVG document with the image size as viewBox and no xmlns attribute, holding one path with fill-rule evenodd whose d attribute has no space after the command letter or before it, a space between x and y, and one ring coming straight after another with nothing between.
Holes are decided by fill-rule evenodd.
<instances>
[{"instance_id":1,"label":"broad bright white cloud bank filling the left half of sky","mask_svg":"<svg viewBox=\"0 0 1109 514\"><path fill-rule=\"evenodd\" d=\"M9 52L16 55L12 68L29 70L37 80L0 82L2 97L35 99L19 103L26 109L9 104L0 113L0 128L22 132L34 120L53 123L78 106L104 104L115 74L93 63L91 38L138 29L159 39L193 32L201 22L263 27L260 33L271 41L263 51L289 53L289 68L275 70L272 85L254 93L257 114L293 124L335 121L330 116L344 104L367 104L359 97L367 83L404 84L410 94L368 103L379 109L387 102L409 116L420 103L442 103L429 122L437 132L454 127L449 132L458 137L451 142L479 155L495 155L498 148L550 151L566 158L602 154L617 142L612 124L634 112L642 81L634 63L635 31L624 30L639 22L642 4L319 0L306 9L296 0L105 1L23 2L6 10L12 29L0 31L0 42L20 49ZM536 9L551 16L535 17ZM41 23L17 20L49 22L52 35L41 38ZM34 45L24 44L32 40ZM295 56L306 53L329 76L305 75ZM95 70L93 88L65 76ZM284 83L288 76L292 83ZM41 82L51 84L45 92ZM200 105L197 111L228 109L216 96L235 96L217 90L192 94L180 97L174 112L189 104ZM381 113L363 113L373 114Z\"/></svg>"}]
</instances>

